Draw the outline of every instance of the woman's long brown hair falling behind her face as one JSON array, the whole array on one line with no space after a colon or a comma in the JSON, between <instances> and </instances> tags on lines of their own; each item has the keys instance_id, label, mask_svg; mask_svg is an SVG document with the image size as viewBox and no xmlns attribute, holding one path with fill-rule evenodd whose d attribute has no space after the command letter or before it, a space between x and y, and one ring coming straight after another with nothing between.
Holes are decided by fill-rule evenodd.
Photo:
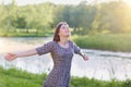
<instances>
[{"instance_id":1,"label":"woman's long brown hair falling behind her face","mask_svg":"<svg viewBox=\"0 0 131 87\"><path fill-rule=\"evenodd\" d=\"M56 30L55 30L55 35L53 35L53 41L60 41L60 36L59 36L59 32L60 32L60 27L63 25L63 24L67 24L67 22L60 22L58 23L58 25L56 26Z\"/></svg>"}]
</instances>

